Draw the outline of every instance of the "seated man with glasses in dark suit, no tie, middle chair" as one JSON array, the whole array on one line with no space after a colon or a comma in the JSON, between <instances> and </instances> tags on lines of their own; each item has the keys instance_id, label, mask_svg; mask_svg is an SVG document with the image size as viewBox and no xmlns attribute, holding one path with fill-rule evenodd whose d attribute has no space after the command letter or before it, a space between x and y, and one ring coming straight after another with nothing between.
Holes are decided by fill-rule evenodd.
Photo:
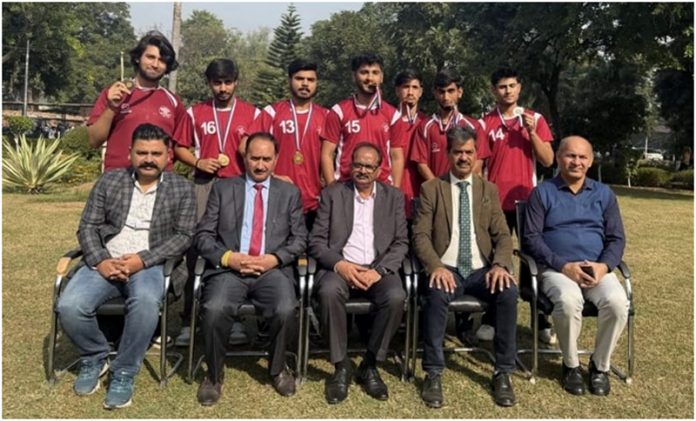
<instances>
[{"instance_id":1,"label":"seated man with glasses in dark suit, no tie, middle chair","mask_svg":"<svg viewBox=\"0 0 696 421\"><path fill-rule=\"evenodd\" d=\"M352 363L346 354L349 297L365 297L377 307L367 352L357 381L375 399L389 397L377 371L401 322L406 293L398 275L408 252L404 195L376 181L382 155L370 143L358 144L352 155L351 181L339 182L321 193L319 212L309 243L317 259L323 335L328 338L336 370L327 379L330 404L348 396Z\"/></svg>"}]
</instances>

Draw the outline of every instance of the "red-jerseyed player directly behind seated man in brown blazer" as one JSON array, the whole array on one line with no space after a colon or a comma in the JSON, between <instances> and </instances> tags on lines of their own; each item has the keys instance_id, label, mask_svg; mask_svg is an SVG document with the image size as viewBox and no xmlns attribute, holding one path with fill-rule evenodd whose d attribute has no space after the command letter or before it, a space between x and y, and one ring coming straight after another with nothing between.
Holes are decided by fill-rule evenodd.
<instances>
[{"instance_id":1,"label":"red-jerseyed player directly behind seated man in brown blazer","mask_svg":"<svg viewBox=\"0 0 696 421\"><path fill-rule=\"evenodd\" d=\"M476 119L460 113L457 109L464 93L461 76L456 70L445 68L435 75L433 85L433 96L438 111L418 129L411 151L411 161L418 166L418 172L424 181L447 174L450 170L447 158L447 129L459 126L476 134L476 153L479 159L474 165L474 173L480 174L481 160L489 154L486 136Z\"/></svg>"}]
</instances>

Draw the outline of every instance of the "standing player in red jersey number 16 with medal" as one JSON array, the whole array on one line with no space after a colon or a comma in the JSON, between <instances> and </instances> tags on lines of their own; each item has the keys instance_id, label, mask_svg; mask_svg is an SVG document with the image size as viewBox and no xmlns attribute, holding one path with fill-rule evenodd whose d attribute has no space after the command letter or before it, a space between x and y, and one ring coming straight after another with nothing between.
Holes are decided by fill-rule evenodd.
<instances>
[{"instance_id":1,"label":"standing player in red jersey number 16 with medal","mask_svg":"<svg viewBox=\"0 0 696 421\"><path fill-rule=\"evenodd\" d=\"M230 59L215 59L205 69L205 77L213 97L187 110L183 124L174 137L176 158L193 167L196 190L197 220L203 217L213 182L218 178L237 177L244 172L244 163L237 149L246 140L254 119L261 113L253 105L234 96L239 68ZM194 147L191 153L189 148ZM191 307L193 306L193 271L196 253L187 254L188 278L184 286L184 312L181 333L175 344L186 346L191 335ZM233 343L247 341L244 325L237 322L230 339Z\"/></svg>"}]
</instances>

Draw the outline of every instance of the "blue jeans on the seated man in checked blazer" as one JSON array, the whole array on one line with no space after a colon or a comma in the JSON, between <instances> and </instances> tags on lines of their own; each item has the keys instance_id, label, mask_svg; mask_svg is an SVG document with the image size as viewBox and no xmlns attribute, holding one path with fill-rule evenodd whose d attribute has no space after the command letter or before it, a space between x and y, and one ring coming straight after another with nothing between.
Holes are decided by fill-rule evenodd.
<instances>
[{"instance_id":1,"label":"blue jeans on the seated man in checked blazer","mask_svg":"<svg viewBox=\"0 0 696 421\"><path fill-rule=\"evenodd\" d=\"M106 358L110 348L99 330L96 310L112 298L125 297L126 321L111 372L135 376L157 328L163 293L161 265L131 275L128 282L104 279L98 271L84 266L68 282L57 311L63 330L77 346L80 357L97 361Z\"/></svg>"}]
</instances>

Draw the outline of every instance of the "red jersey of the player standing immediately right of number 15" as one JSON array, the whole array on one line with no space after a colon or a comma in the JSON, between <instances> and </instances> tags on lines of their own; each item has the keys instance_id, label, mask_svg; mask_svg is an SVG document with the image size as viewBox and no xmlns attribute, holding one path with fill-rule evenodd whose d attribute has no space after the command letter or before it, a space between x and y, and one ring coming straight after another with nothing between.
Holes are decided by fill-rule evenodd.
<instances>
[{"instance_id":1,"label":"red jersey of the player standing immediately right of number 15","mask_svg":"<svg viewBox=\"0 0 696 421\"><path fill-rule=\"evenodd\" d=\"M414 121L409 121L407 116L402 116L394 126L394 137L404 148L404 175L401 177L401 191L404 192L406 204L406 218L413 217L413 198L420 195L420 185L423 182L418 173L416 163L408 159L413 143L416 140L416 133L421 124L428 118L423 112L418 112ZM399 139L396 139L399 137Z\"/></svg>"}]
</instances>

